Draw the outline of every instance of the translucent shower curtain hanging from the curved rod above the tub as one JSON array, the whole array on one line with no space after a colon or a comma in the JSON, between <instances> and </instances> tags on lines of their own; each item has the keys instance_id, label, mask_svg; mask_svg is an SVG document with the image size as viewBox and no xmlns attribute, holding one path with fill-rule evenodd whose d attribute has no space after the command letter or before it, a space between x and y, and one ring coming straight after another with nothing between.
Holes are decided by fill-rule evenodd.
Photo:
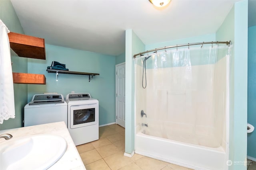
<instances>
[{"instance_id":1,"label":"translucent shower curtain hanging from the curved rod above the tub","mask_svg":"<svg viewBox=\"0 0 256 170\"><path fill-rule=\"evenodd\" d=\"M136 126L155 137L222 145L231 49L204 45L134 59Z\"/></svg>"}]
</instances>

